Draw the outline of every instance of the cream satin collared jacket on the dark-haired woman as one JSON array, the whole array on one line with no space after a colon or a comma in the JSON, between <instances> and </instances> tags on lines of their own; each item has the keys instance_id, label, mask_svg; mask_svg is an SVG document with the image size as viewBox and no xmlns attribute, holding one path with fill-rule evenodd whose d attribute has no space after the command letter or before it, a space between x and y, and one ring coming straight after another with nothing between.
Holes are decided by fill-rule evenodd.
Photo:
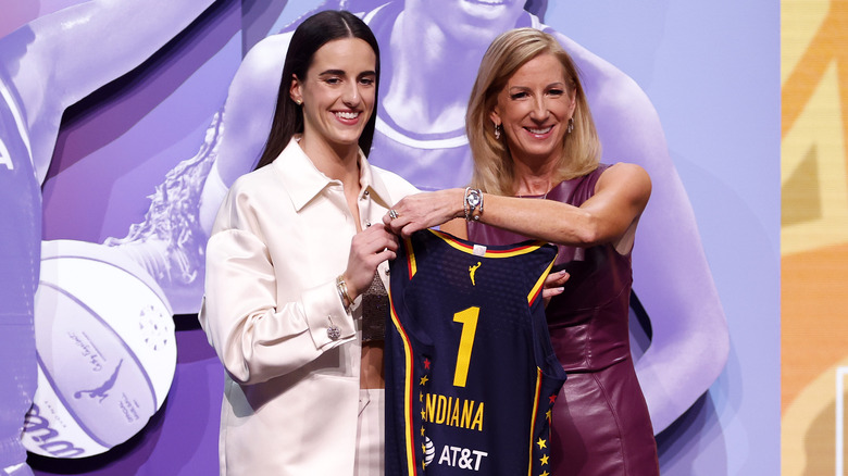
<instances>
[{"instance_id":1,"label":"cream satin collared jacket on the dark-haired woman","mask_svg":"<svg viewBox=\"0 0 848 476\"><path fill-rule=\"evenodd\" d=\"M417 191L361 153L360 170L363 228ZM227 193L207 246L199 315L227 373L222 475L353 474L361 313L346 312L335 281L353 220L341 183L294 140ZM387 263L378 273L388 288Z\"/></svg>"}]
</instances>

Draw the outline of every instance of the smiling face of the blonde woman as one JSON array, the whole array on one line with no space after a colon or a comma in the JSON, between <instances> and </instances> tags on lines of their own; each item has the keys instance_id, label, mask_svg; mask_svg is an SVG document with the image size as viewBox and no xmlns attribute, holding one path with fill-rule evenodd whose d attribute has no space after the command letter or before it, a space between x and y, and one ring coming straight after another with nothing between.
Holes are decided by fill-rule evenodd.
<instances>
[{"instance_id":1,"label":"smiling face of the blonde woman","mask_svg":"<svg viewBox=\"0 0 848 476\"><path fill-rule=\"evenodd\" d=\"M524 63L507 80L490 118L503 126L513 160L559 160L576 104L571 84L562 63L549 53Z\"/></svg>"}]
</instances>

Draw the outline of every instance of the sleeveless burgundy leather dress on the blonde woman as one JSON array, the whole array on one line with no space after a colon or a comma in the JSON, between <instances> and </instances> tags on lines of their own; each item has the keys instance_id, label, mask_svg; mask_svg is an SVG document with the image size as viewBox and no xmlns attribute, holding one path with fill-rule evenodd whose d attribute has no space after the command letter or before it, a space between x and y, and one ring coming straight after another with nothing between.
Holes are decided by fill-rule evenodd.
<instances>
[{"instance_id":1,"label":"sleeveless burgundy leather dress on the blonde woman","mask_svg":"<svg viewBox=\"0 0 848 476\"><path fill-rule=\"evenodd\" d=\"M546 199L579 206L608 167L562 181ZM470 223L469 239L504 245L526 238ZM658 475L657 443L629 348L631 255L612 245L558 248L553 270L565 268L571 277L546 312L569 379L553 408L551 475Z\"/></svg>"}]
</instances>

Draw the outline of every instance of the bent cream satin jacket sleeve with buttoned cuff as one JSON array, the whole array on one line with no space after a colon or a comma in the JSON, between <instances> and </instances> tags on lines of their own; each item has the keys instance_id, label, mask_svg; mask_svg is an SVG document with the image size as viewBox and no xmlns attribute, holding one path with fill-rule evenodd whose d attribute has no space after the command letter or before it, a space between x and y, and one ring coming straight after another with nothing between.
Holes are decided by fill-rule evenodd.
<instances>
[{"instance_id":1,"label":"bent cream satin jacket sleeve with buttoned cuff","mask_svg":"<svg viewBox=\"0 0 848 476\"><path fill-rule=\"evenodd\" d=\"M334 280L303 289L295 300L278 301L267 246L252 229L258 226L255 215L230 199L232 191L207 245L199 320L232 378L240 384L265 381L353 340L353 318ZM331 326L338 333L331 333Z\"/></svg>"}]
</instances>

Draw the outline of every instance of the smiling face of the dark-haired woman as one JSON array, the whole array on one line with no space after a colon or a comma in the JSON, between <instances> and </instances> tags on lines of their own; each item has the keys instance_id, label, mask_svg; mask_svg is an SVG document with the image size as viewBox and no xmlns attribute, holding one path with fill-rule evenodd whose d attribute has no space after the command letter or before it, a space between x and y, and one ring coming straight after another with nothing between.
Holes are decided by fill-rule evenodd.
<instances>
[{"instance_id":1,"label":"smiling face of the dark-haired woman","mask_svg":"<svg viewBox=\"0 0 848 476\"><path fill-rule=\"evenodd\" d=\"M357 150L374 112L376 62L374 50L359 38L328 41L315 51L305 77L295 76L289 89L303 108L302 145Z\"/></svg>"}]
</instances>

